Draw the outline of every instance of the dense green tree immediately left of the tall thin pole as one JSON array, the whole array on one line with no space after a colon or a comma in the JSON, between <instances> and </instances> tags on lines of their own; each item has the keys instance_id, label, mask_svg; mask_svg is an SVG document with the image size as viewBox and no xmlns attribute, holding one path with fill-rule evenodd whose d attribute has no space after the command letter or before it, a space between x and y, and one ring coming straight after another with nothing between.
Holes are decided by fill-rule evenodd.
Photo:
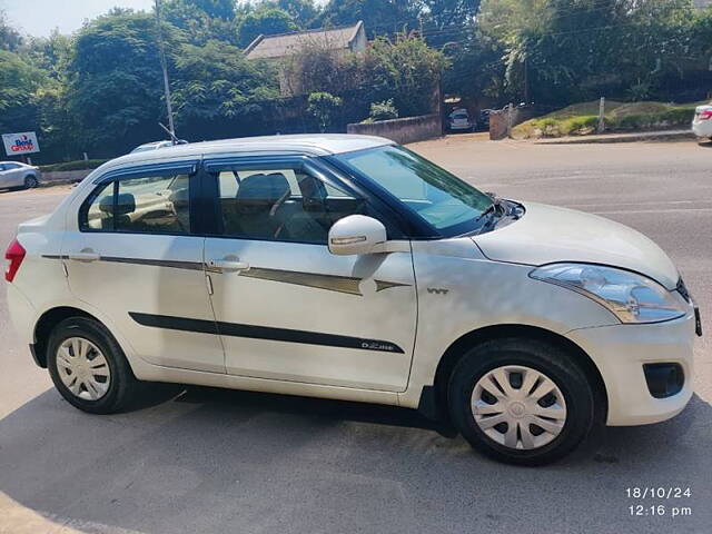
<instances>
[{"instance_id":1,"label":"dense green tree immediately left of the tall thin pole","mask_svg":"<svg viewBox=\"0 0 712 534\"><path fill-rule=\"evenodd\" d=\"M175 32L164 36L168 50L177 49ZM77 33L67 71L68 106L87 151L112 156L164 137L152 14L107 14L87 23Z\"/></svg>"}]
</instances>

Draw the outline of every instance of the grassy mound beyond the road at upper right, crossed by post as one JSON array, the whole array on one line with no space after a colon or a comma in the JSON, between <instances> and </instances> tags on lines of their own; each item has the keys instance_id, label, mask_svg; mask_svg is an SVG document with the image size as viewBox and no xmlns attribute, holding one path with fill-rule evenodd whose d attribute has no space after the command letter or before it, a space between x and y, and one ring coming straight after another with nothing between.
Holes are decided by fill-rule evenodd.
<instances>
[{"instance_id":1,"label":"grassy mound beyond the road at upper right, crossed by post","mask_svg":"<svg viewBox=\"0 0 712 534\"><path fill-rule=\"evenodd\" d=\"M642 131L689 126L695 106L663 102L605 102L605 131ZM599 101L582 102L527 120L513 128L515 139L586 136L596 132Z\"/></svg>"}]
</instances>

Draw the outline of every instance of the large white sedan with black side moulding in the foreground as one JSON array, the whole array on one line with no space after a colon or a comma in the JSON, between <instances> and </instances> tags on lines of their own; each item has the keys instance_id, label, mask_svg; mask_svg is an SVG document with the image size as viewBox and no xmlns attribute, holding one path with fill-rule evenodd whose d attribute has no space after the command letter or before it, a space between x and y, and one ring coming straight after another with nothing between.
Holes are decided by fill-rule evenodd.
<instances>
[{"instance_id":1,"label":"large white sedan with black side moulding in the foreground","mask_svg":"<svg viewBox=\"0 0 712 534\"><path fill-rule=\"evenodd\" d=\"M542 464L692 396L699 314L655 244L493 198L386 139L125 156L6 257L21 339L90 413L150 382L360 400Z\"/></svg>"}]
</instances>

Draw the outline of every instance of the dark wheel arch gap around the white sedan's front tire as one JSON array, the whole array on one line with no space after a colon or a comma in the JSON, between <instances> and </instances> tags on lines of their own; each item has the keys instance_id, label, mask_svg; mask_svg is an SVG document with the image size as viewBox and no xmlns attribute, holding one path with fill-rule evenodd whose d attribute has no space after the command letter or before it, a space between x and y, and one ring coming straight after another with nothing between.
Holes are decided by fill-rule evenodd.
<instances>
[{"instance_id":1,"label":"dark wheel arch gap around the white sedan's front tire","mask_svg":"<svg viewBox=\"0 0 712 534\"><path fill-rule=\"evenodd\" d=\"M593 386L596 403L595 421L601 423L606 421L609 409L607 390L599 367L589 354L577 344L561 334L527 325L486 326L468 332L453 342L437 364L433 386L423 388L418 409L429 418L448 422L447 386L457 363L465 356L469 348L484 342L506 338L536 339L561 347L568 354L572 354L575 358L575 364L583 369Z\"/></svg>"}]
</instances>

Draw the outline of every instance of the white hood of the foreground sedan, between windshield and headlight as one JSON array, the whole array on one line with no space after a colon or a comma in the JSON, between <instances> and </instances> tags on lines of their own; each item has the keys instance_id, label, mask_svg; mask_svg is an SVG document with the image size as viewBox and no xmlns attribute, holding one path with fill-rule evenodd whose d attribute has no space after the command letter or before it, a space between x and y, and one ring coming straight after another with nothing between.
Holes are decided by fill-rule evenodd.
<instances>
[{"instance_id":1,"label":"white hood of the foreground sedan, between windshield and headlight","mask_svg":"<svg viewBox=\"0 0 712 534\"><path fill-rule=\"evenodd\" d=\"M595 215L534 202L515 222L473 237L490 259L527 265L555 261L602 264L634 270L668 289L680 275L668 255L627 226Z\"/></svg>"}]
</instances>

